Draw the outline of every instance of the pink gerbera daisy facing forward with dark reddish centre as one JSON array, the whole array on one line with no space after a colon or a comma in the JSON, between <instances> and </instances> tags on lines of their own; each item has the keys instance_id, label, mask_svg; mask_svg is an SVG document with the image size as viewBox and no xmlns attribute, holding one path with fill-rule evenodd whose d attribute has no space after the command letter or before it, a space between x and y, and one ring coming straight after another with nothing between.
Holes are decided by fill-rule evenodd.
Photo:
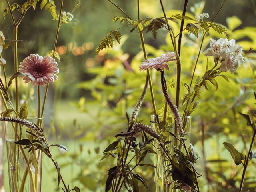
<instances>
[{"instance_id":1,"label":"pink gerbera daisy facing forward with dark reddish centre","mask_svg":"<svg viewBox=\"0 0 256 192\"><path fill-rule=\"evenodd\" d=\"M31 86L45 86L45 84L54 82L58 79L56 73L59 73L58 64L54 58L50 56L39 56L31 54L20 62L19 70L26 74L24 77L25 83L31 81Z\"/></svg>"}]
</instances>

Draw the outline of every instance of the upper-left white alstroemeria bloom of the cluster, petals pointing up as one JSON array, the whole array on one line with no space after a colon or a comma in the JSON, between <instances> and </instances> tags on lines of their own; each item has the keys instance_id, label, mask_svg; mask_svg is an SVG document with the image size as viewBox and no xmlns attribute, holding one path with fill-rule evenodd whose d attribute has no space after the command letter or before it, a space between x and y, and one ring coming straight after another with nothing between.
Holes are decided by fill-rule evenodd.
<instances>
[{"instance_id":1,"label":"upper-left white alstroemeria bloom of the cluster, petals pointing up","mask_svg":"<svg viewBox=\"0 0 256 192\"><path fill-rule=\"evenodd\" d=\"M216 56L223 57L227 56L229 49L227 47L223 48L224 39L218 39L217 41L214 39L210 39L210 47L206 49L203 54L205 56Z\"/></svg>"}]
</instances>

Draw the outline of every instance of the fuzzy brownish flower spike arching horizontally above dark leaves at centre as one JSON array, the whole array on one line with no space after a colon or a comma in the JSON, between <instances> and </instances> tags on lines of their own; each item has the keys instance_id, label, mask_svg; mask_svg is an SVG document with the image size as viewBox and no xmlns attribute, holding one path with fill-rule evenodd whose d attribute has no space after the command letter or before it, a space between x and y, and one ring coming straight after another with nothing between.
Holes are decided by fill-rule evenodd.
<instances>
[{"instance_id":1,"label":"fuzzy brownish flower spike arching horizontally above dark leaves at centre","mask_svg":"<svg viewBox=\"0 0 256 192\"><path fill-rule=\"evenodd\" d=\"M141 131L144 131L150 136L160 140L160 136L150 126L144 125L142 123L135 124L130 132L120 133L120 134L117 134L115 137L134 136Z\"/></svg>"}]
</instances>

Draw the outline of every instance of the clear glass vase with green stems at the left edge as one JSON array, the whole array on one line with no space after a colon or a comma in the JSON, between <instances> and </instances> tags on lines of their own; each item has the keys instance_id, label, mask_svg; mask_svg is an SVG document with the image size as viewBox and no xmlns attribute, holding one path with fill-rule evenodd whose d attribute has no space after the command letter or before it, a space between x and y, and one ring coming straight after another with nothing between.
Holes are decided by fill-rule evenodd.
<instances>
[{"instance_id":1,"label":"clear glass vase with green stems at the left edge","mask_svg":"<svg viewBox=\"0 0 256 192\"><path fill-rule=\"evenodd\" d=\"M42 122L42 118L36 117L27 120L35 124ZM24 145L15 144L21 139L33 139L26 129L14 122L4 122L10 192L41 192L42 153L29 152L29 148L23 149Z\"/></svg>"}]
</instances>

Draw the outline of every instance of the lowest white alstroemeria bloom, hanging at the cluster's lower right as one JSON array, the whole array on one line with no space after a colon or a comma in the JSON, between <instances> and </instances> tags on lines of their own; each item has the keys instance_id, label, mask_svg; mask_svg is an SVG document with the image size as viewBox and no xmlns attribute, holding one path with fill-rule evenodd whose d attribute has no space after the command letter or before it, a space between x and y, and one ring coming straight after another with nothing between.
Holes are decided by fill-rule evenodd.
<instances>
[{"instance_id":1,"label":"lowest white alstroemeria bloom, hanging at the cluster's lower right","mask_svg":"<svg viewBox=\"0 0 256 192\"><path fill-rule=\"evenodd\" d=\"M238 60L234 52L230 53L230 57L225 58L220 64L220 70L223 72L230 71L234 73L238 67Z\"/></svg>"}]
</instances>

